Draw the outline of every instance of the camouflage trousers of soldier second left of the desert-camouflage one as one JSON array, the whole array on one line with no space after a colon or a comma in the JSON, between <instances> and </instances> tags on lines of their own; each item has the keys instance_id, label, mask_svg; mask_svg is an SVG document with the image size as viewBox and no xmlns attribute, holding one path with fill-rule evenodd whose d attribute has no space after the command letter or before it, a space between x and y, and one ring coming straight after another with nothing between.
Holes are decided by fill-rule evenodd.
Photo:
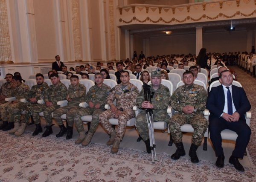
<instances>
[{"instance_id":1,"label":"camouflage trousers of soldier second left of the desert-camouflage one","mask_svg":"<svg viewBox=\"0 0 256 182\"><path fill-rule=\"evenodd\" d=\"M67 116L67 113L70 111L70 110L79 110L80 107L79 106L64 106L64 107L60 107L58 109L56 109L53 113L52 113L52 116L53 118L55 118L55 121L56 123L58 124L58 126L61 126L63 124L63 121L61 119L61 115L63 114L66 114L66 119L68 120L68 116ZM69 118L70 119L70 118ZM69 125L70 127L73 126L72 125Z\"/></svg>"}]
</instances>

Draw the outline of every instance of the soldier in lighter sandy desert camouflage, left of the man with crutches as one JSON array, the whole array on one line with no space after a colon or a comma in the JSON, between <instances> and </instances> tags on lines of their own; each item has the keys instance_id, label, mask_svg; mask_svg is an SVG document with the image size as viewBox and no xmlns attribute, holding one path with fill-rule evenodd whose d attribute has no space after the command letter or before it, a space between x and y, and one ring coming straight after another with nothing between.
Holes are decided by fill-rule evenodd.
<instances>
[{"instance_id":1,"label":"soldier in lighter sandy desert camouflage, left of the man with crutches","mask_svg":"<svg viewBox=\"0 0 256 182\"><path fill-rule=\"evenodd\" d=\"M116 85L110 90L107 98L107 103L111 109L104 111L99 116L99 122L111 135L107 145L112 145L111 153L117 153L119 149L120 141L125 133L126 123L129 119L135 116L133 106L136 103L136 97L139 94L139 90L130 81L130 75L127 71L121 71L120 73L121 84ZM116 100L116 106L113 101ZM111 126L109 122L110 118L118 119L117 132Z\"/></svg>"}]
</instances>

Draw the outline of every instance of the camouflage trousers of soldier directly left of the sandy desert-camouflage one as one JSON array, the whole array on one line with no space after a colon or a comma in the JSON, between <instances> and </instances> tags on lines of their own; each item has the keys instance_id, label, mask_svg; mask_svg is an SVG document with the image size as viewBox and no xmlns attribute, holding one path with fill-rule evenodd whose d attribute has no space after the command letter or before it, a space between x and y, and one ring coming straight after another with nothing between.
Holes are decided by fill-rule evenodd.
<instances>
[{"instance_id":1,"label":"camouflage trousers of soldier directly left of the sandy desert-camouflage one","mask_svg":"<svg viewBox=\"0 0 256 182\"><path fill-rule=\"evenodd\" d=\"M105 109L96 109L96 108L90 108L90 107L79 107L79 109L72 109L67 114L67 121L68 124L72 124L75 122L76 130L78 132L84 131L84 123L81 120L81 116L88 116L92 115L92 121L90 123L90 132L94 133L96 131L96 128L99 125L99 115L104 112Z\"/></svg>"}]
</instances>

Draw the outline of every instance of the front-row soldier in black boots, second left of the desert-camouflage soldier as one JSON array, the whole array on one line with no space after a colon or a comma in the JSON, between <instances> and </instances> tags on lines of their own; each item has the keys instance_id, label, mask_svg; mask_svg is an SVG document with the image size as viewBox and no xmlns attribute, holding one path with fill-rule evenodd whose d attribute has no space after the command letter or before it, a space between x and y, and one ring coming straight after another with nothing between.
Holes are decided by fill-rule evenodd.
<instances>
[{"instance_id":1,"label":"front-row soldier in black boots, second left of the desert-camouflage soldier","mask_svg":"<svg viewBox=\"0 0 256 182\"><path fill-rule=\"evenodd\" d=\"M68 101L67 106L56 109L52 114L53 118L55 118L56 123L61 128L60 132L56 135L56 137L61 137L65 133L67 133L66 139L71 139L73 136L73 124L69 125L67 122L67 128L65 128L61 119L61 115L68 113L68 111L72 109L79 110L79 104L84 100L83 98L86 92L85 86L79 84L79 78L77 75L73 75L70 77L70 83L71 84L68 88L66 96L66 99ZM66 114L66 118L67 120L69 120L69 115Z\"/></svg>"}]
</instances>

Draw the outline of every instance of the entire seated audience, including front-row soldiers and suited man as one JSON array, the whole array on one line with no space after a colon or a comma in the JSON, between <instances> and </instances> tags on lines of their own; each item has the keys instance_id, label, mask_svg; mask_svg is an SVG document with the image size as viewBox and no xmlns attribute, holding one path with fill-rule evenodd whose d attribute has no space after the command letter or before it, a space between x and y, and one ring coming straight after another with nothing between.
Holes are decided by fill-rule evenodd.
<instances>
[{"instance_id":1,"label":"entire seated audience, including front-row soldiers and suited man","mask_svg":"<svg viewBox=\"0 0 256 182\"><path fill-rule=\"evenodd\" d=\"M67 79L70 79L68 89L61 83L59 75L54 69L48 73L52 85L48 86L44 82L44 75L38 73L36 74L37 84L32 86L31 89L23 83L20 75L6 74L6 83L0 88L0 117L3 121L0 130L9 130L10 134L21 136L31 117L35 123L35 131L32 136L36 136L43 131L40 124L40 113L43 112L46 121L46 130L42 135L43 137L52 134L52 119L54 118L56 124L60 127L56 137L66 135L66 139L71 139L73 126L75 126L79 133L79 138L75 143L87 146L90 144L100 123L110 135L107 145L112 145L111 153L117 153L125 133L127 121L136 117L137 131L145 142L147 153L151 153L152 148L145 116L145 110L149 109L153 110L155 122L165 121L169 126L170 134L177 147L176 152L171 156L172 159L177 160L185 155L180 127L183 124L191 124L194 133L189 156L191 162L198 163L196 150L201 145L204 133L209 125L210 138L217 156L216 166L219 168L224 166L220 133L224 129L230 129L238 133L238 138L229 162L237 170L244 171L238 158L243 158L245 148L250 140L250 127L246 124L244 118L244 113L250 110L250 103L243 88L232 85L232 73L226 67L221 66L222 63L219 62L221 67L218 69L218 78L215 78L215 80L219 80L221 86L212 89L209 95L204 87L194 84L195 79L199 79L197 75L200 71L200 68L198 69L195 64L183 73L182 81L184 85L178 87L172 95L170 95L169 89L161 84L162 79L169 79L167 66L179 63L178 69L184 69L184 66L187 66L189 62L194 62L194 60L195 56L192 55L168 55L147 59L142 57L139 61L135 57L134 61L126 60L124 63L120 61L116 63L116 66L111 62L102 68L103 65L98 62L97 66L86 64L85 66L76 66L75 69L70 68L70 71L74 72L75 70L76 74L81 75L82 79L89 79L88 73L94 74L95 85L89 88L87 94L86 90L88 88L80 84L78 75L68 72L65 65L61 69L63 74L67 75ZM218 60L216 62L218 64ZM157 65L158 68L148 72L145 69L146 65ZM151 81L151 102L145 100L144 90L139 91L130 82L130 73L128 70L123 70L124 67L131 70L135 77L145 84ZM112 89L103 83L104 79L110 79L108 71L111 69L116 69L115 75L118 84ZM6 102L5 98L7 97L15 97L15 99ZM26 98L26 102L21 102L20 99L22 98ZM44 102L38 103L39 100ZM58 101L62 100L67 100L67 105L64 107L57 104ZM87 107L80 107L81 102L86 102ZM105 104L109 105L109 109L105 109ZM177 112L171 118L167 113L169 105ZM137 116L133 110L134 106L141 110ZM204 118L206 108L210 111L209 121ZM66 114L66 127L61 118L63 114ZM23 115L22 119L21 115ZM81 117L87 115L92 115L92 120L90 129L85 134ZM110 118L118 120L116 130L111 126Z\"/></svg>"}]
</instances>

